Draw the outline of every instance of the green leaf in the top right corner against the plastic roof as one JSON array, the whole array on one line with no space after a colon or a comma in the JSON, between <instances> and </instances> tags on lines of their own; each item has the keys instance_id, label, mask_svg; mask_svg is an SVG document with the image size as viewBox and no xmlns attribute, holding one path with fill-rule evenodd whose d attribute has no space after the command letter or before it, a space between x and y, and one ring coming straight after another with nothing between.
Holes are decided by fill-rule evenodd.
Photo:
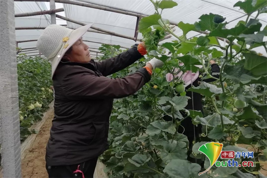
<instances>
[{"instance_id":1,"label":"green leaf in the top right corner against the plastic roof","mask_svg":"<svg viewBox=\"0 0 267 178\"><path fill-rule=\"evenodd\" d=\"M266 1L258 0L254 6L252 5L253 0L247 0L247 1L238 1L233 7L240 7L240 9L244 10L247 14L251 14L252 12L257 11L259 8L262 8Z\"/></svg>"}]
</instances>

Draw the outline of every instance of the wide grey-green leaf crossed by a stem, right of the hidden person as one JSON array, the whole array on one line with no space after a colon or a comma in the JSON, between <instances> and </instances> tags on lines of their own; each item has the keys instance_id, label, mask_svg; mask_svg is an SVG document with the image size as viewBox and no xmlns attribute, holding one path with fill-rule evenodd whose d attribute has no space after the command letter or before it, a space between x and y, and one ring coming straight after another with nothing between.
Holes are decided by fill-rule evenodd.
<instances>
[{"instance_id":1,"label":"wide grey-green leaf crossed by a stem, right of the hidden person","mask_svg":"<svg viewBox=\"0 0 267 178\"><path fill-rule=\"evenodd\" d=\"M223 124L233 124L234 121L229 120L227 117L222 116ZM202 125L212 126L215 127L217 125L221 124L221 117L217 113L213 113L212 115L209 115L207 117L199 117L197 116L195 119L193 119L195 123L201 123Z\"/></svg>"}]
</instances>

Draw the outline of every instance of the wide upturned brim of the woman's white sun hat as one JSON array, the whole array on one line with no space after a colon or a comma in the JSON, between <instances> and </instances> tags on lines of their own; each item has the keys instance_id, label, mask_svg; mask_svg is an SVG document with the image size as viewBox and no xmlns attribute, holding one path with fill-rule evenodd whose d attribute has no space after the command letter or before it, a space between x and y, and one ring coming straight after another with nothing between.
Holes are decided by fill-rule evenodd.
<instances>
[{"instance_id":1,"label":"wide upturned brim of the woman's white sun hat","mask_svg":"<svg viewBox=\"0 0 267 178\"><path fill-rule=\"evenodd\" d=\"M91 28L92 24L89 25L85 25L82 26L80 28L77 28L75 30L73 30L69 36L69 40L68 40L68 46L66 48L63 48L63 46L61 47L61 50L59 50L59 52L57 53L57 55L55 55L54 59L52 59L52 78L55 74L55 70L59 64L59 62L61 61L62 57L65 55L65 53L67 52L67 50L69 50L69 48L75 43L77 42L80 37L82 37L89 28Z\"/></svg>"}]
</instances>

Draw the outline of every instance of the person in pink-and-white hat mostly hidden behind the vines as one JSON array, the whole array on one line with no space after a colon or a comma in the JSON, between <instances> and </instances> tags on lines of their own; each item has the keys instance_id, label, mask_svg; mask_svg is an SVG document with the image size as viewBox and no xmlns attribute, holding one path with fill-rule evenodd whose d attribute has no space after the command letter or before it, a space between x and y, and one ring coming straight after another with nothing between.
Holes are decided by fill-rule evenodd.
<instances>
[{"instance_id":1,"label":"person in pink-and-white hat mostly hidden behind the vines","mask_svg":"<svg viewBox=\"0 0 267 178\"><path fill-rule=\"evenodd\" d=\"M220 73L220 67L218 66L218 64L215 62L214 59L210 60L209 63L211 64L211 75L215 78L219 78L219 74ZM201 66L198 66L201 67ZM184 74L177 74L174 77L181 77L181 79L184 81L185 84L185 91L188 90L189 88L191 88L191 82L192 82L192 86L198 87L200 85L199 82L203 81L203 82L214 82L215 79L209 78L209 79L201 79L200 73L199 71L197 71L196 73L193 73L191 71L186 71ZM173 80L173 76L172 74L167 74L166 75L166 80L167 81L171 81ZM193 95L192 95L193 93ZM204 115L203 112L203 107L201 104L201 99L202 99L202 95L199 93L195 93L195 92L191 92L191 91L187 91L186 92L186 96L190 97L190 99L187 102L187 106L185 107L185 109L191 109L191 110L196 110L196 111L201 111L202 114ZM181 112L183 117L186 117L187 114L185 112ZM164 115L163 119L166 121L171 121L172 117L170 117L169 115ZM182 118L177 118L178 121ZM189 151L187 152L187 160L194 162L195 159L190 157L190 153L192 152L192 147L193 147L193 141L196 138L196 141L199 139L199 134L201 134L201 124L198 124L197 126L194 125L192 123L192 118L191 117L187 117L185 120L183 120L181 122L181 126L179 126L178 128L178 133L180 134L184 134L187 136L188 141L189 141ZM194 135L195 133L195 135Z\"/></svg>"}]
</instances>

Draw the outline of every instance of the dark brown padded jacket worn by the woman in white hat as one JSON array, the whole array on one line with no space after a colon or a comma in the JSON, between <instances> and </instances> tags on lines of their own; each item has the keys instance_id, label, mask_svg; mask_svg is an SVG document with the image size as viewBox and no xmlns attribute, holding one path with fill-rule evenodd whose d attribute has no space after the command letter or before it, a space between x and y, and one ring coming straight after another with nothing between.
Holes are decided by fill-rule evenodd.
<instances>
[{"instance_id":1,"label":"dark brown padded jacket worn by the woman in white hat","mask_svg":"<svg viewBox=\"0 0 267 178\"><path fill-rule=\"evenodd\" d=\"M150 74L140 68L124 78L106 76L142 57L134 45L100 62L59 63L53 76L55 117L46 148L48 166L82 163L108 149L113 99L136 93L150 80Z\"/></svg>"}]
</instances>

